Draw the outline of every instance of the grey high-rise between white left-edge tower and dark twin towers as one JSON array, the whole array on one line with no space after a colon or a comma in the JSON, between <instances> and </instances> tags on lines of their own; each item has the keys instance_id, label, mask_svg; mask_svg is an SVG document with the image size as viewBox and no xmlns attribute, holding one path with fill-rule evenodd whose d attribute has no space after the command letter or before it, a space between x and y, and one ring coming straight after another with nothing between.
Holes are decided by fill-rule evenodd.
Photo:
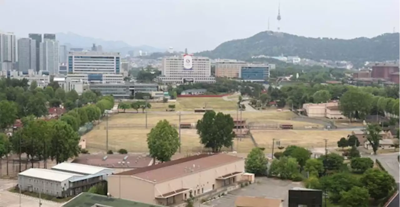
<instances>
[{"instance_id":1,"label":"grey high-rise between white left-edge tower and dark twin towers","mask_svg":"<svg viewBox=\"0 0 400 207\"><path fill-rule=\"evenodd\" d=\"M28 72L36 71L36 40L31 38L18 39L18 70Z\"/></svg>"}]
</instances>

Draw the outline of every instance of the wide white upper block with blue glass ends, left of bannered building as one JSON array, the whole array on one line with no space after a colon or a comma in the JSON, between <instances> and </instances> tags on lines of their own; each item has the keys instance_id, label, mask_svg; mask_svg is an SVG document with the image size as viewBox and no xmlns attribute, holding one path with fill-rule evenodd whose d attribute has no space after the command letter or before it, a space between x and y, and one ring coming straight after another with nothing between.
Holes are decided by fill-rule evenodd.
<instances>
[{"instance_id":1,"label":"wide white upper block with blue glass ends, left of bannered building","mask_svg":"<svg viewBox=\"0 0 400 207\"><path fill-rule=\"evenodd\" d=\"M119 74L119 52L68 52L69 74Z\"/></svg>"}]
</instances>

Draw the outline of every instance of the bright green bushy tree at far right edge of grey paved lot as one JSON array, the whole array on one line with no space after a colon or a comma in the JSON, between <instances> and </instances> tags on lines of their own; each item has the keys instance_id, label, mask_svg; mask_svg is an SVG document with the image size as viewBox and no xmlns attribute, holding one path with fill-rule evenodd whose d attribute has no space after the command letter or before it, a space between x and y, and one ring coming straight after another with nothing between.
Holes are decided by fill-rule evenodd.
<instances>
[{"instance_id":1,"label":"bright green bushy tree at far right edge of grey paved lot","mask_svg":"<svg viewBox=\"0 0 400 207\"><path fill-rule=\"evenodd\" d=\"M293 179L298 173L298 163L296 158L293 157L274 159L269 171L269 175L279 177L280 179Z\"/></svg>"}]
</instances>

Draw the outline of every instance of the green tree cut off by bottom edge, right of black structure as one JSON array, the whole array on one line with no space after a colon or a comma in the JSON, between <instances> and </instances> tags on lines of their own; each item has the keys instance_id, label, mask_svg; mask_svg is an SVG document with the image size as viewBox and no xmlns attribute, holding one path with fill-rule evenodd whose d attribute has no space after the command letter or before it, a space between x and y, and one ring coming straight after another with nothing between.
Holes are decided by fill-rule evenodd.
<instances>
[{"instance_id":1,"label":"green tree cut off by bottom edge, right of black structure","mask_svg":"<svg viewBox=\"0 0 400 207\"><path fill-rule=\"evenodd\" d=\"M340 192L340 205L343 207L368 207L368 189L354 186L349 191Z\"/></svg>"}]
</instances>

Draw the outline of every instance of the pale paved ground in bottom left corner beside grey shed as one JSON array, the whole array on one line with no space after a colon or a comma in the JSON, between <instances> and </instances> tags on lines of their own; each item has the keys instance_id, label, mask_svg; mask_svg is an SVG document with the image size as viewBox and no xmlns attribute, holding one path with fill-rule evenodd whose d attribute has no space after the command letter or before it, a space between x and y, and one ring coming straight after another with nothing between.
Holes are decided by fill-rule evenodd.
<instances>
[{"instance_id":1,"label":"pale paved ground in bottom left corner beside grey shed","mask_svg":"<svg viewBox=\"0 0 400 207\"><path fill-rule=\"evenodd\" d=\"M39 206L39 199L21 195L18 193L11 193L7 189L14 187L17 184L16 180L0 179L0 207L37 207ZM61 203L54 203L51 201L43 201L42 207L59 207Z\"/></svg>"}]
</instances>

